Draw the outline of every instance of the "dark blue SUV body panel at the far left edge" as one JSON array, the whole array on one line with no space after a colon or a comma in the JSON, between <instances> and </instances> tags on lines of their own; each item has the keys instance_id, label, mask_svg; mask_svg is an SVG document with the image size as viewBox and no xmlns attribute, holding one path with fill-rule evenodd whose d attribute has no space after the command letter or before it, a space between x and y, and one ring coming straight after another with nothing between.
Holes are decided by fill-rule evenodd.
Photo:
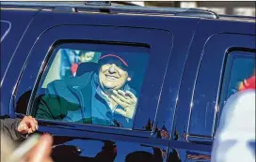
<instances>
[{"instance_id":1,"label":"dark blue SUV body panel at the far left edge","mask_svg":"<svg viewBox=\"0 0 256 162\"><path fill-rule=\"evenodd\" d=\"M8 67L10 66L17 46L19 46L29 26L29 22L33 20L37 11L37 9L9 9L8 7L1 6L1 115L9 113L8 104L11 98L12 88L19 77L19 72L24 62L21 60L16 63L15 69L10 72L11 75L9 76L7 75ZM27 54L19 53L19 56L25 58Z\"/></svg>"}]
</instances>

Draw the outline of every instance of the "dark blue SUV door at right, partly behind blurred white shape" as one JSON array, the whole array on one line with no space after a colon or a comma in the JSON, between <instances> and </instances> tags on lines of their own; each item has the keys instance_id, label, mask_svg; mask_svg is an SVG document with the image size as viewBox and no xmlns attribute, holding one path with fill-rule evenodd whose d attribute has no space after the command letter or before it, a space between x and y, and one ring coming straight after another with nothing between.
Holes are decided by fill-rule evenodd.
<instances>
[{"instance_id":1,"label":"dark blue SUV door at right, partly behind blurred white shape","mask_svg":"<svg viewBox=\"0 0 256 162\"><path fill-rule=\"evenodd\" d=\"M237 28L231 28L233 25ZM200 22L175 113L173 134L177 136L170 142L170 152L180 155L182 161L211 160L223 105L255 70L253 31L253 23Z\"/></svg>"}]
</instances>

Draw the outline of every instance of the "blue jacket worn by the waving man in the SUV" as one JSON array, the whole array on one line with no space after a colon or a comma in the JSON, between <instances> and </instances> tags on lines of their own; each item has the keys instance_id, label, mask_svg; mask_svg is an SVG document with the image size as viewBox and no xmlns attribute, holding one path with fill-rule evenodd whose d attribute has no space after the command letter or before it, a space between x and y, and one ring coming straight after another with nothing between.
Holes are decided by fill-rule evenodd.
<instances>
[{"instance_id":1,"label":"blue jacket worn by the waving man in the SUV","mask_svg":"<svg viewBox=\"0 0 256 162\"><path fill-rule=\"evenodd\" d=\"M135 93L128 84L122 90ZM53 81L40 98L36 117L66 122L132 127L133 120L111 110L101 95L98 74L87 72L80 77ZM119 109L122 109L119 106Z\"/></svg>"}]
</instances>

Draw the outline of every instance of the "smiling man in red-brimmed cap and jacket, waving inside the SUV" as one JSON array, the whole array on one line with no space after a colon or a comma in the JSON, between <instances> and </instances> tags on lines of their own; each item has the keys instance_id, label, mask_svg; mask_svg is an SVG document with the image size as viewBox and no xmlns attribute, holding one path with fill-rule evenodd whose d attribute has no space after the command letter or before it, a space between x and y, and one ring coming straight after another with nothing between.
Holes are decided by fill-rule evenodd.
<instances>
[{"instance_id":1,"label":"smiling man in red-brimmed cap and jacket, waving inside the SUV","mask_svg":"<svg viewBox=\"0 0 256 162\"><path fill-rule=\"evenodd\" d=\"M105 54L99 68L72 79L53 81L40 98L40 119L132 127L137 98L128 85L128 63Z\"/></svg>"}]
</instances>

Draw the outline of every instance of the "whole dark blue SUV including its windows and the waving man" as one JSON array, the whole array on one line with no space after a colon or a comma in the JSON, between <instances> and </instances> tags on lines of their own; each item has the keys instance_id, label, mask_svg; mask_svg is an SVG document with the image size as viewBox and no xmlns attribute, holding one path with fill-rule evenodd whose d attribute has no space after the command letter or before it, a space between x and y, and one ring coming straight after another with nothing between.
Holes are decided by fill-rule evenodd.
<instances>
[{"instance_id":1,"label":"whole dark blue SUV including its windows and the waving man","mask_svg":"<svg viewBox=\"0 0 256 162\"><path fill-rule=\"evenodd\" d=\"M210 161L255 68L255 18L1 2L1 115L32 115L55 161Z\"/></svg>"}]
</instances>

